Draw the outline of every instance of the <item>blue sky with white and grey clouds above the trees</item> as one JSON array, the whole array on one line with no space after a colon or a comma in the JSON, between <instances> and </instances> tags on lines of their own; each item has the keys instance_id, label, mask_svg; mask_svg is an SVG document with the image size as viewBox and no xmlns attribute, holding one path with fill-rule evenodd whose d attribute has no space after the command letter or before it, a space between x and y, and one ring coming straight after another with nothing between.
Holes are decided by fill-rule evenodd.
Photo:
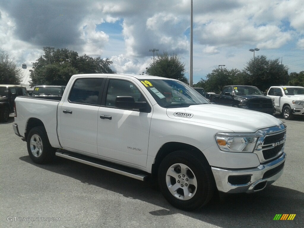
<instances>
[{"instance_id":1,"label":"blue sky with white and grey clouds above the trees","mask_svg":"<svg viewBox=\"0 0 304 228\"><path fill-rule=\"evenodd\" d=\"M0 49L18 66L54 46L140 74L156 48L178 54L189 77L190 9L191 0L1 0ZM218 65L242 70L251 48L289 73L304 70L303 0L193 0L193 28L194 83Z\"/></svg>"}]
</instances>

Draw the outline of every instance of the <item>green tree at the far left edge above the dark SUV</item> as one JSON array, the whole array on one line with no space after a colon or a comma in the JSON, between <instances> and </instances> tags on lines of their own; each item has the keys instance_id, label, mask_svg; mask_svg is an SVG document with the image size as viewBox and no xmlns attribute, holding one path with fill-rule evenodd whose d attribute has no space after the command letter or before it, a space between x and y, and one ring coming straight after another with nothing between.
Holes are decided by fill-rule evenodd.
<instances>
[{"instance_id":1,"label":"green tree at the far left edge above the dark SUV","mask_svg":"<svg viewBox=\"0 0 304 228\"><path fill-rule=\"evenodd\" d=\"M21 79L21 70L16 66L14 59L0 50L0 84L20 85Z\"/></svg>"}]
</instances>

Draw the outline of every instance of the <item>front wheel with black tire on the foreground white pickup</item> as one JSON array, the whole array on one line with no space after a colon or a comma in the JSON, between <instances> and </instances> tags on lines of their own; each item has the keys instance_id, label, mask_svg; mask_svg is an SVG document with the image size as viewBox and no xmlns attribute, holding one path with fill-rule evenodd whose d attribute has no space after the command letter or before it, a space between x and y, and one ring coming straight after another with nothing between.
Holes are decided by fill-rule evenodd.
<instances>
[{"instance_id":1,"label":"front wheel with black tire on the foreground white pickup","mask_svg":"<svg viewBox=\"0 0 304 228\"><path fill-rule=\"evenodd\" d=\"M158 183L164 198L172 206L186 211L207 204L215 189L210 165L203 156L190 150L175 151L161 161Z\"/></svg>"}]
</instances>

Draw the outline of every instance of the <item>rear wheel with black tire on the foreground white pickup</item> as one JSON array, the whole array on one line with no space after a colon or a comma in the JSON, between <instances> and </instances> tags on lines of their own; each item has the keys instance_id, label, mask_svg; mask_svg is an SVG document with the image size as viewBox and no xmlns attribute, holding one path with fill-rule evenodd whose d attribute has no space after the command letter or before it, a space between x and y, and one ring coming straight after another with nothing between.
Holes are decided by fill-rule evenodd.
<instances>
[{"instance_id":1,"label":"rear wheel with black tire on the foreground white pickup","mask_svg":"<svg viewBox=\"0 0 304 228\"><path fill-rule=\"evenodd\" d=\"M47 132L43 126L29 131L26 140L29 157L37 164L46 164L54 160L56 149L50 145Z\"/></svg>"}]
</instances>

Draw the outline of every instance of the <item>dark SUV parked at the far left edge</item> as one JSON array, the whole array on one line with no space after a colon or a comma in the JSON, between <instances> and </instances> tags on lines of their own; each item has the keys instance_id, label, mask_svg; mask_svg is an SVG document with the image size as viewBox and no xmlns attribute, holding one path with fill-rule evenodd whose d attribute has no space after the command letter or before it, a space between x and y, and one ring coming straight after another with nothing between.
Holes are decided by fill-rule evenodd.
<instances>
[{"instance_id":1,"label":"dark SUV parked at the far left edge","mask_svg":"<svg viewBox=\"0 0 304 228\"><path fill-rule=\"evenodd\" d=\"M28 96L26 88L21 85L0 85L0 122L9 120L9 114L14 112L17 96Z\"/></svg>"}]
</instances>

